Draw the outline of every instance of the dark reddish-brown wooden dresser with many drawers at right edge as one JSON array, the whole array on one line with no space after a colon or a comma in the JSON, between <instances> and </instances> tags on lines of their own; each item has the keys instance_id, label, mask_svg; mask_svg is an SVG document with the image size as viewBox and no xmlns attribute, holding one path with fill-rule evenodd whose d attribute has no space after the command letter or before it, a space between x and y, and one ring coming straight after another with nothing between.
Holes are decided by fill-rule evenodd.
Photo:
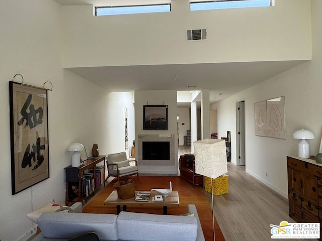
<instances>
[{"instance_id":1,"label":"dark reddish-brown wooden dresser with many drawers at right edge","mask_svg":"<svg viewBox=\"0 0 322 241\"><path fill-rule=\"evenodd\" d=\"M322 165L314 157L287 157L289 216L322 223ZM320 224L322 226L322 224Z\"/></svg>"}]
</instances>

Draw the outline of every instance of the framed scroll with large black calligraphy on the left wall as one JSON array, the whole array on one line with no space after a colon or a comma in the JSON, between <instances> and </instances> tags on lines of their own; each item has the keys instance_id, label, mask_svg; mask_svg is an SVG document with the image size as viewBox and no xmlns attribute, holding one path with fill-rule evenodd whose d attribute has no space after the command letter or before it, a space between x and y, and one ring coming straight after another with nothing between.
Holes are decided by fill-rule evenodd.
<instances>
[{"instance_id":1,"label":"framed scroll with large black calligraphy on the left wall","mask_svg":"<svg viewBox=\"0 0 322 241\"><path fill-rule=\"evenodd\" d=\"M47 90L13 81L9 89L11 179L16 194L49 178Z\"/></svg>"}]
</instances>

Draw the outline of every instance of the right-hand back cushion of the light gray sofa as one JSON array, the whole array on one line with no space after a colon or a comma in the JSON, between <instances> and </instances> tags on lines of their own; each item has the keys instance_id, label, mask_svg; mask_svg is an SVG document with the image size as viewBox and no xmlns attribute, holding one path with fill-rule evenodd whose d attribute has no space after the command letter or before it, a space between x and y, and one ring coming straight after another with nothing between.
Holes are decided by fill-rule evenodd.
<instances>
[{"instance_id":1,"label":"right-hand back cushion of the light gray sofa","mask_svg":"<svg viewBox=\"0 0 322 241\"><path fill-rule=\"evenodd\" d=\"M120 240L195 241L196 217L120 212L117 218Z\"/></svg>"}]
</instances>

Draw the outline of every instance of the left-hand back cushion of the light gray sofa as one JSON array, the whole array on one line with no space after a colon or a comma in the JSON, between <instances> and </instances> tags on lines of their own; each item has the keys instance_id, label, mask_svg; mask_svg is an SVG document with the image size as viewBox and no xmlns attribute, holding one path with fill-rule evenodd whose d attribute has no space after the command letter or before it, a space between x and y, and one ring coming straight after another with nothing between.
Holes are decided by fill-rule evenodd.
<instances>
[{"instance_id":1,"label":"left-hand back cushion of the light gray sofa","mask_svg":"<svg viewBox=\"0 0 322 241\"><path fill-rule=\"evenodd\" d=\"M118 240L115 214L44 212L38 225L45 238L72 238L96 232L101 240Z\"/></svg>"}]
</instances>

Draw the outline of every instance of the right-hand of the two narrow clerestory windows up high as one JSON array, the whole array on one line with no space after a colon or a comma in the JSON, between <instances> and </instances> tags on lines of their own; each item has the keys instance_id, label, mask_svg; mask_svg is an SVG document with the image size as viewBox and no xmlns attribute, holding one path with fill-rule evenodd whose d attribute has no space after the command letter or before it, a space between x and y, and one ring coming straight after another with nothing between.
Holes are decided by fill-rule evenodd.
<instances>
[{"instance_id":1,"label":"right-hand of the two narrow clerestory windows up high","mask_svg":"<svg viewBox=\"0 0 322 241\"><path fill-rule=\"evenodd\" d=\"M274 6L274 0L190 0L190 11Z\"/></svg>"}]
</instances>

